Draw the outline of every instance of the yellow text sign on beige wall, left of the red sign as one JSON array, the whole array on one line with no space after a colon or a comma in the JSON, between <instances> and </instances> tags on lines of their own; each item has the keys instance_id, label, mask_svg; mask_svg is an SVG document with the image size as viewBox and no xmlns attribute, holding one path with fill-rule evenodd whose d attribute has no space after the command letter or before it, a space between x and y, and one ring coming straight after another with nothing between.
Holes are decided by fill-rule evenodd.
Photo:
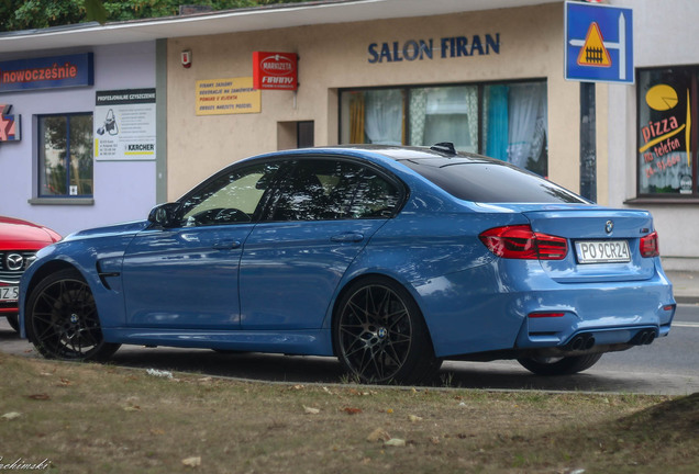
<instances>
[{"instance_id":1,"label":"yellow text sign on beige wall, left of the red sign","mask_svg":"<svg viewBox=\"0 0 699 474\"><path fill-rule=\"evenodd\" d=\"M197 81L197 115L262 112L262 91L253 89L253 78Z\"/></svg>"}]
</instances>

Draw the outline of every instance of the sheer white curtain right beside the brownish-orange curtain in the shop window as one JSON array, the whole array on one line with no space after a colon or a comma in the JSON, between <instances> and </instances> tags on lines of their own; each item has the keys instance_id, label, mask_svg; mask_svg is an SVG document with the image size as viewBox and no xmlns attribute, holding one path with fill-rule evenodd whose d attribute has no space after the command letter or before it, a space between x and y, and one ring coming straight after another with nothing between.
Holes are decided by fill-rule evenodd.
<instances>
[{"instance_id":1,"label":"sheer white curtain right beside the brownish-orange curtain in the shop window","mask_svg":"<svg viewBox=\"0 0 699 474\"><path fill-rule=\"evenodd\" d=\"M369 142L379 145L401 145L403 94L400 90L366 92L365 132Z\"/></svg>"}]
</instances>

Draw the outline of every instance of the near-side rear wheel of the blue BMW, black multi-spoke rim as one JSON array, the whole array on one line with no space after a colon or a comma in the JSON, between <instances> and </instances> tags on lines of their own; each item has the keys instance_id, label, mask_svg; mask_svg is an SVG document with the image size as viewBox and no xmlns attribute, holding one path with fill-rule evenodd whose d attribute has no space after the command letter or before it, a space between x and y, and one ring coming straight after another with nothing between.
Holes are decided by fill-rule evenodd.
<instances>
[{"instance_id":1,"label":"near-side rear wheel of the blue BMW, black multi-spoke rim","mask_svg":"<svg viewBox=\"0 0 699 474\"><path fill-rule=\"evenodd\" d=\"M400 284L379 276L344 293L333 343L340 362L363 383L414 384L442 365L418 304Z\"/></svg>"}]
</instances>

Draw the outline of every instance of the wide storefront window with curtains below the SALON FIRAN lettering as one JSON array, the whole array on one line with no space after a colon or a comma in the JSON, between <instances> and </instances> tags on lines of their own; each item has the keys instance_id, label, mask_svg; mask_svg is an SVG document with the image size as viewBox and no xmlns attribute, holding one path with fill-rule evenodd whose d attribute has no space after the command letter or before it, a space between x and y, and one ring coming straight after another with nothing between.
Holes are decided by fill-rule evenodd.
<instances>
[{"instance_id":1,"label":"wide storefront window with curtains below the SALON FIRAN lettering","mask_svg":"<svg viewBox=\"0 0 699 474\"><path fill-rule=\"evenodd\" d=\"M341 142L452 142L547 173L546 82L359 89L341 92Z\"/></svg>"}]
</instances>

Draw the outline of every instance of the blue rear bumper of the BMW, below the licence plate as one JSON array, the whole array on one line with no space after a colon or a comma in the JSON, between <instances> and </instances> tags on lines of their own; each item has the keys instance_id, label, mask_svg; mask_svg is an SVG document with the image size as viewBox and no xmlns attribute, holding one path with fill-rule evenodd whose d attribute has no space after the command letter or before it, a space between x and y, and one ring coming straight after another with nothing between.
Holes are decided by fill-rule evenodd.
<instances>
[{"instance_id":1,"label":"blue rear bumper of the BMW, below the licence plate","mask_svg":"<svg viewBox=\"0 0 699 474\"><path fill-rule=\"evenodd\" d=\"M498 260L415 290L437 357L564 350L578 335L618 350L641 331L666 336L676 309L659 267L639 281L561 283L537 261ZM531 316L541 314L555 316Z\"/></svg>"}]
</instances>

